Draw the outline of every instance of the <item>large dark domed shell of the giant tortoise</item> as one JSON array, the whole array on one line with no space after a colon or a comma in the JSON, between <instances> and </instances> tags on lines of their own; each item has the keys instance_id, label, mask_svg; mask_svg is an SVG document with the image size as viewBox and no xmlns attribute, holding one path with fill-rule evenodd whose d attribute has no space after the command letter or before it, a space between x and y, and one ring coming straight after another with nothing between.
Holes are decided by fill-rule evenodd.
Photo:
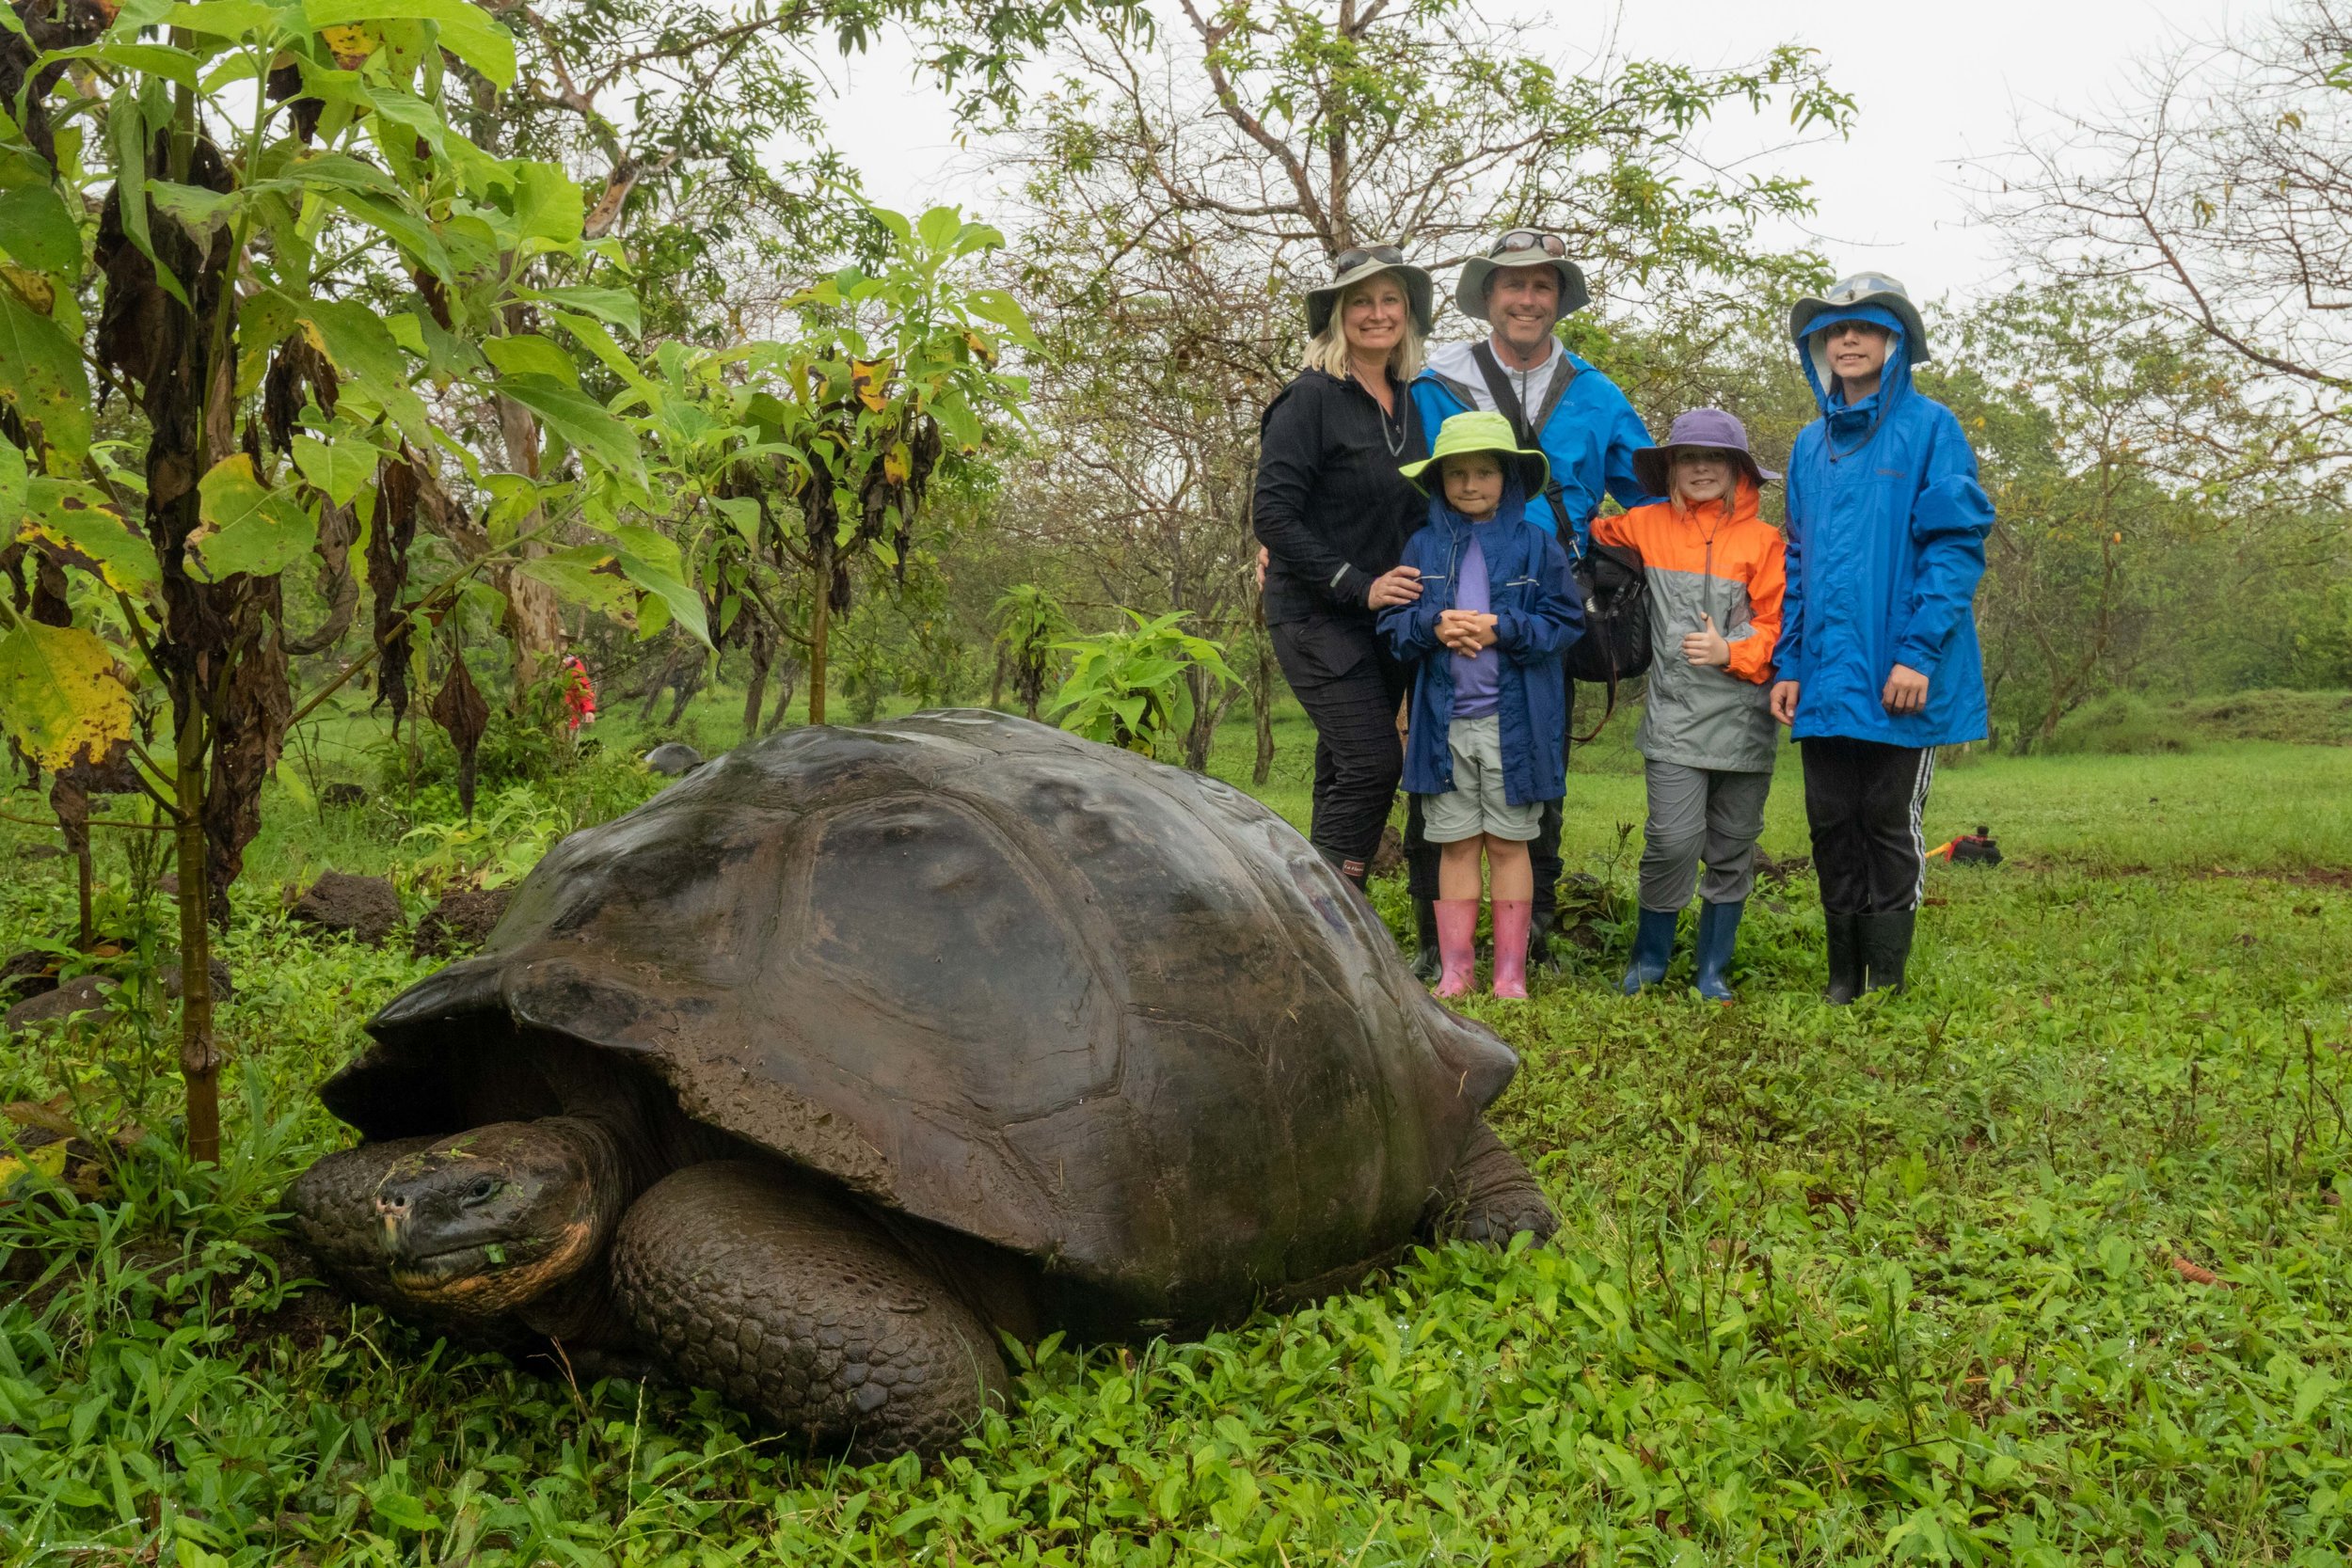
<instances>
[{"instance_id":1,"label":"large dark domed shell of the giant tortoise","mask_svg":"<svg viewBox=\"0 0 2352 1568\"><path fill-rule=\"evenodd\" d=\"M532 1114L496 1065L550 1032L1136 1321L1392 1255L1517 1070L1258 802L967 710L743 745L567 837L367 1027L322 1098L369 1138Z\"/></svg>"}]
</instances>

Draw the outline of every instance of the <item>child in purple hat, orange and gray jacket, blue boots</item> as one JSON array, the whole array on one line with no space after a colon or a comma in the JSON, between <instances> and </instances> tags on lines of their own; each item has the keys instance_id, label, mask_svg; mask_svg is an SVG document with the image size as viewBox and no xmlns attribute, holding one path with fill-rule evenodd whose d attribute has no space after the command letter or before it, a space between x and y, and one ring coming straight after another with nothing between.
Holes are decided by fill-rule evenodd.
<instances>
[{"instance_id":1,"label":"child in purple hat, orange and gray jacket, blue boots","mask_svg":"<svg viewBox=\"0 0 2352 1568\"><path fill-rule=\"evenodd\" d=\"M1780 475L1748 454L1748 430L1719 409L1675 421L1663 447L1632 454L1668 501L1595 517L1592 538L1642 555L1649 637L1658 649L1635 748L1649 783L1642 919L1625 994L1665 978L1675 922L1698 910L1698 994L1731 1001L1731 943L1755 886L1771 792L1771 654L1780 637L1788 548L1759 510ZM1698 865L1708 879L1698 886Z\"/></svg>"}]
</instances>

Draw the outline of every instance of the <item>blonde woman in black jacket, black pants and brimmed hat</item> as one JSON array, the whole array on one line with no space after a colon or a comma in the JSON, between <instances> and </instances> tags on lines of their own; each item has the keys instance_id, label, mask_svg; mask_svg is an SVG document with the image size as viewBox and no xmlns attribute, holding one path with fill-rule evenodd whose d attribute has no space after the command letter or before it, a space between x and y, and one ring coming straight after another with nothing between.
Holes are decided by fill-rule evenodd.
<instances>
[{"instance_id":1,"label":"blonde woman in black jacket, black pants and brimmed hat","mask_svg":"<svg viewBox=\"0 0 2352 1568\"><path fill-rule=\"evenodd\" d=\"M1421 597L1421 574L1397 559L1428 501L1397 470L1428 451L1404 388L1421 371L1430 310L1430 275L1395 247L1341 252L1331 282L1308 294L1305 369L1258 425L1265 625L1315 724L1308 837L1357 886L1404 773L1397 703L1409 679L1374 618Z\"/></svg>"}]
</instances>

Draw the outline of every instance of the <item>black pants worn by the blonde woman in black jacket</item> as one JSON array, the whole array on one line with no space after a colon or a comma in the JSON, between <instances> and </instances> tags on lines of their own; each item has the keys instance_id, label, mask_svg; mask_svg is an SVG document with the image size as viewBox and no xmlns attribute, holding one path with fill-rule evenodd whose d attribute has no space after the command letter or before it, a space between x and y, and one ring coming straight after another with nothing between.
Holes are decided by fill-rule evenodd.
<instances>
[{"instance_id":1,"label":"black pants worn by the blonde woman in black jacket","mask_svg":"<svg viewBox=\"0 0 2352 1568\"><path fill-rule=\"evenodd\" d=\"M1343 877L1362 882L1404 778L1397 705L1411 675L1388 656L1369 618L1308 616L1268 630L1282 679L1315 724L1308 842Z\"/></svg>"}]
</instances>

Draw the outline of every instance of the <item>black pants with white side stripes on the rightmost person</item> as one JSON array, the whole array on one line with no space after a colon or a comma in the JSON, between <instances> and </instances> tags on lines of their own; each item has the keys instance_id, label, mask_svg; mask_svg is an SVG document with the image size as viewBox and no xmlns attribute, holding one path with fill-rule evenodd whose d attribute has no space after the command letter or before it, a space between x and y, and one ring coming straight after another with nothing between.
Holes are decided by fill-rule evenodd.
<instances>
[{"instance_id":1,"label":"black pants with white side stripes on the rightmost person","mask_svg":"<svg viewBox=\"0 0 2352 1568\"><path fill-rule=\"evenodd\" d=\"M1823 736L1799 741L1813 875L1830 914L1900 914L1926 893L1926 788L1936 750Z\"/></svg>"}]
</instances>

